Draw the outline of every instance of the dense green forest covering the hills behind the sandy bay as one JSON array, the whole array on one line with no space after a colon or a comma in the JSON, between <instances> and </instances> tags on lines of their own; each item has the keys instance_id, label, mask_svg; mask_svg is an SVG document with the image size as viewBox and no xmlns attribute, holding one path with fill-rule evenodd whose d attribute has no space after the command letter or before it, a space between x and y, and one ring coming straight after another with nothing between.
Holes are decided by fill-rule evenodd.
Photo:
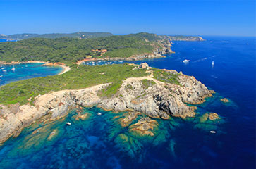
<instances>
[{"instance_id":1,"label":"dense green forest covering the hills behind the sandy bay","mask_svg":"<svg viewBox=\"0 0 256 169\"><path fill-rule=\"evenodd\" d=\"M71 64L87 57L127 58L152 52L155 47L159 47L159 39L157 35L148 33L94 39L31 38L0 43L0 61L49 61ZM103 54L97 51L102 49L107 52Z\"/></svg>"}]
</instances>

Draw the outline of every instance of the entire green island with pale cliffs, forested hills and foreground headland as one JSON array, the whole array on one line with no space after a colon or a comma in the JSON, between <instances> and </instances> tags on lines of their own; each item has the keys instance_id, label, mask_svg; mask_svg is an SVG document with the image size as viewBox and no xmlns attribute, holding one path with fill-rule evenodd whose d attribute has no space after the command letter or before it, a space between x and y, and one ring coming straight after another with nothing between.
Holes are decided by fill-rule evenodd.
<instances>
[{"instance_id":1,"label":"entire green island with pale cliffs, forested hills and foreground headland","mask_svg":"<svg viewBox=\"0 0 256 169\"><path fill-rule=\"evenodd\" d=\"M43 61L45 65L69 67L61 75L20 80L0 87L0 143L18 136L25 126L39 118L58 119L72 108L86 106L144 113L147 118L138 123L138 132L150 137L154 136L150 126L155 124L151 118L194 117L196 107L187 104L202 104L214 93L195 77L150 68L147 63L81 64L92 60L164 57L173 52L170 47L169 36L146 32L94 39L30 38L0 43L1 64ZM128 116L123 126L134 118ZM215 119L218 116L214 114L211 120Z\"/></svg>"}]
</instances>

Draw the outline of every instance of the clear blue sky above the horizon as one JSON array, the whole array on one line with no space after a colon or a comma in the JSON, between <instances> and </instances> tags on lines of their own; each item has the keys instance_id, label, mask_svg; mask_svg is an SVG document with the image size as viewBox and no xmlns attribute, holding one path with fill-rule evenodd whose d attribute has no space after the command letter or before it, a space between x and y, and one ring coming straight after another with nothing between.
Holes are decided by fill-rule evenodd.
<instances>
[{"instance_id":1,"label":"clear blue sky above the horizon","mask_svg":"<svg viewBox=\"0 0 256 169\"><path fill-rule=\"evenodd\" d=\"M0 33L255 36L254 0L0 0Z\"/></svg>"}]
</instances>

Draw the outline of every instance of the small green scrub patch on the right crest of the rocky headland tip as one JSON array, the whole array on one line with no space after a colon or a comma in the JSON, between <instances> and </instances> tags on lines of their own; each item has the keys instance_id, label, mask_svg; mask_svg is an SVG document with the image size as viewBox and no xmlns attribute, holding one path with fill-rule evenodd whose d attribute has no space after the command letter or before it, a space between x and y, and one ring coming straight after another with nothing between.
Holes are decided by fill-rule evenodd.
<instances>
[{"instance_id":1,"label":"small green scrub patch on the right crest of the rocky headland tip","mask_svg":"<svg viewBox=\"0 0 256 169\"><path fill-rule=\"evenodd\" d=\"M180 83L178 82L178 75L179 75L178 73L174 74L174 73L167 72L164 70L159 70L156 68L152 68L152 70L153 70L153 75L154 75L155 79L157 79L161 82L180 85Z\"/></svg>"}]
</instances>

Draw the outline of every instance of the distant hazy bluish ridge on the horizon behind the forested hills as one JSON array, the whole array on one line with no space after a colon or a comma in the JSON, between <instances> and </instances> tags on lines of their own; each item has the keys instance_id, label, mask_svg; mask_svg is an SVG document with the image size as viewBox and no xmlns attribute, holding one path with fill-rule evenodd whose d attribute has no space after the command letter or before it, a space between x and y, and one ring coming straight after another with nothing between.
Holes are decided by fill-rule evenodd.
<instances>
[{"instance_id":1,"label":"distant hazy bluish ridge on the horizon behind the forested hills","mask_svg":"<svg viewBox=\"0 0 256 169\"><path fill-rule=\"evenodd\" d=\"M75 33L69 33L69 34L61 34L61 33L51 33L51 34L14 34L14 35L7 35L7 36L1 36L0 39L13 39L13 40L23 40L28 38L60 38L60 37L74 37L74 38L82 38L82 39L88 39L88 38L95 38L95 37L109 37L113 34L109 32L75 32Z\"/></svg>"}]
</instances>

